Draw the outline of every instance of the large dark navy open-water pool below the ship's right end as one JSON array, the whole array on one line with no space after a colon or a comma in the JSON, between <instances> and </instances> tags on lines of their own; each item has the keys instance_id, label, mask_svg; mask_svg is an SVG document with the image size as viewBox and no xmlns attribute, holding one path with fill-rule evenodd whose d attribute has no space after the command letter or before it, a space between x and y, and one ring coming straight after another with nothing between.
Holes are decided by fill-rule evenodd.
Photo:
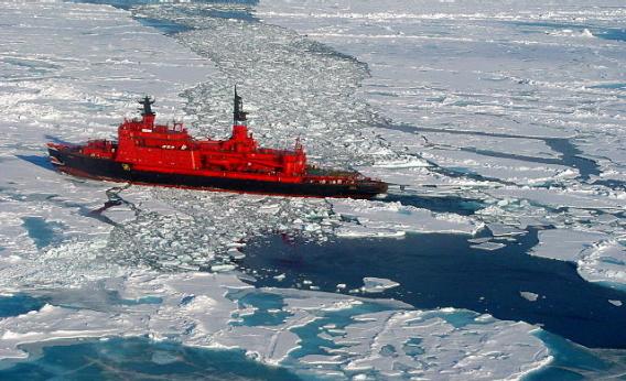
<instances>
[{"instance_id":1,"label":"large dark navy open-water pool below the ship's right end","mask_svg":"<svg viewBox=\"0 0 626 381\"><path fill-rule=\"evenodd\" d=\"M392 297L418 308L457 307L499 319L541 324L587 347L626 348L626 293L584 281L573 263L537 258L537 230L507 247L484 251L457 235L409 235L401 240L336 239L324 244L285 242L279 237L251 242L241 261L255 269L257 286L292 287L310 280L323 291L337 283L358 289L377 276L401 285L374 297ZM284 273L280 282L272 276ZM520 296L539 294L536 302Z\"/></svg>"}]
</instances>

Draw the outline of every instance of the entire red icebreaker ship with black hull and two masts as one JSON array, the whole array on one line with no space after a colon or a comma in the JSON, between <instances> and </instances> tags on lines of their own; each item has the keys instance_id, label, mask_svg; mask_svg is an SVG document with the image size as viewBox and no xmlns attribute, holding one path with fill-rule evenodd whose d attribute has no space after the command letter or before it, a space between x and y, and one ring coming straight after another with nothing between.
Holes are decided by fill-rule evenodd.
<instances>
[{"instance_id":1,"label":"entire red icebreaker ship with black hull and two masts","mask_svg":"<svg viewBox=\"0 0 626 381\"><path fill-rule=\"evenodd\" d=\"M246 112L237 91L233 134L227 140L196 140L182 123L154 123L153 102L148 97L140 102L142 118L125 120L118 128L117 141L94 140L84 145L50 143L52 162L71 174L172 186L357 197L370 197L387 189L385 183L365 178L357 172L309 167L299 142L293 151L259 148L246 126Z\"/></svg>"}]
</instances>

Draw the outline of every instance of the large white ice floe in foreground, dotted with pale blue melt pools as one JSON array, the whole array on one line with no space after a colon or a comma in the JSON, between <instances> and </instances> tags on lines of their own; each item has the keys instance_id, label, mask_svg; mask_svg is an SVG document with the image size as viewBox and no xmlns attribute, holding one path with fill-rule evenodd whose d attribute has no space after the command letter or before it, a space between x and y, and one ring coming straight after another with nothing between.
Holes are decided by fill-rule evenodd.
<instances>
[{"instance_id":1,"label":"large white ice floe in foreground, dotted with pale blue melt pools","mask_svg":"<svg viewBox=\"0 0 626 381\"><path fill-rule=\"evenodd\" d=\"M0 356L24 358L26 353L19 347L28 342L148 335L154 339L176 338L201 347L245 348L252 358L269 363L290 363L303 372L323 374L325 367L339 366L335 370L339 370L342 378L365 369L384 377L413 372L436 374L453 362L458 362L450 373L453 378L470 374L509 377L549 360L541 341L530 335L537 328L522 323L485 320L478 315L475 323L455 327L446 323L447 316L456 313L453 308L424 313L404 311L397 302L373 304L337 294L253 290L236 277L207 273L134 272L119 279L105 279L100 284L117 291L125 300L140 301L147 295L159 294L161 302L94 311L76 308L80 298L74 297L74 305L67 307L48 304L35 312L4 318L0 320L3 333ZM85 291L83 297L88 301L93 293ZM229 296L234 293L238 298L249 293L279 295L284 303L281 309L287 314L273 324L234 325L233 316L250 316L250 312L239 307ZM376 309L381 311L373 312ZM341 327L326 326L322 330L316 328L316 322L332 322L334 314L348 317L350 323ZM342 333L325 336L334 342L332 349L291 357L305 345L303 337L322 336L326 330ZM489 339L485 341L484 337ZM407 345L410 338L414 338L411 341L414 345ZM495 349L485 342L498 347L499 355L494 356ZM420 350L415 351L418 347Z\"/></svg>"}]
</instances>

